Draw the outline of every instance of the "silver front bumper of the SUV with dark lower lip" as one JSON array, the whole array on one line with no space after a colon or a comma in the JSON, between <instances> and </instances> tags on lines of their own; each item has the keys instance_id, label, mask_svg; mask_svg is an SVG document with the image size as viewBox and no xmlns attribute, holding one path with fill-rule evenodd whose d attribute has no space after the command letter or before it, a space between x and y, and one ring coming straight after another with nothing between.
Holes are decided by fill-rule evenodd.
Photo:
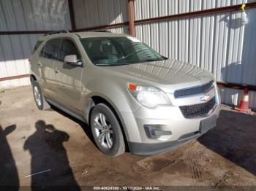
<instances>
[{"instance_id":1,"label":"silver front bumper of the SUV with dark lower lip","mask_svg":"<svg viewBox=\"0 0 256 191\"><path fill-rule=\"evenodd\" d=\"M200 130L201 123L212 117L219 117L220 104L207 117L187 119L178 106L162 106L157 109L141 107L134 113L122 114L129 151L135 155L156 155L197 139L207 130ZM145 125L156 125L159 130L171 133L156 139L148 137ZM211 127L212 128L212 127Z\"/></svg>"}]
</instances>

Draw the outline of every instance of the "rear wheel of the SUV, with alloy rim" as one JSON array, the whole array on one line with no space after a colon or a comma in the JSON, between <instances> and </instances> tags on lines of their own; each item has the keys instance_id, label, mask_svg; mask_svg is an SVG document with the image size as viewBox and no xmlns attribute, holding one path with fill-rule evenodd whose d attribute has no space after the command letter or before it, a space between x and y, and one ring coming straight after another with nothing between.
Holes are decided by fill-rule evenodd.
<instances>
[{"instance_id":1,"label":"rear wheel of the SUV, with alloy rim","mask_svg":"<svg viewBox=\"0 0 256 191\"><path fill-rule=\"evenodd\" d=\"M36 102L37 108L40 110L49 109L50 105L45 100L44 95L42 95L38 82L33 80L31 85L33 87L34 101Z\"/></svg>"}]
</instances>

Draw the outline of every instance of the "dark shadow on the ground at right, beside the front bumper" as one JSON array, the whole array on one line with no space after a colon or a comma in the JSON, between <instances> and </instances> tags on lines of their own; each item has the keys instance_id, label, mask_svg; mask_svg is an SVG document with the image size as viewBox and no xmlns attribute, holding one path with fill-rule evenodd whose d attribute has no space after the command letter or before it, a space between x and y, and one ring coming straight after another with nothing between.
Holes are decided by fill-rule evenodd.
<instances>
[{"instance_id":1,"label":"dark shadow on the ground at right, beside the front bumper","mask_svg":"<svg viewBox=\"0 0 256 191\"><path fill-rule=\"evenodd\" d=\"M213 139L214 138L214 139ZM198 141L256 176L256 116L222 110L217 127Z\"/></svg>"}]
</instances>

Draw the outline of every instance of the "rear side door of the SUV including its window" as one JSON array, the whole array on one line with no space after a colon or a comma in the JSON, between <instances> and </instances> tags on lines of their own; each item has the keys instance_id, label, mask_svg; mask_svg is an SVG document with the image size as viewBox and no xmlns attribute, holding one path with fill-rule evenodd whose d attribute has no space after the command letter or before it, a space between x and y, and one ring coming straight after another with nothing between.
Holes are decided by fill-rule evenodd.
<instances>
[{"instance_id":1,"label":"rear side door of the SUV including its window","mask_svg":"<svg viewBox=\"0 0 256 191\"><path fill-rule=\"evenodd\" d=\"M37 65L42 79L42 91L46 98L56 100L55 84L56 75L53 64L56 62L60 47L60 39L50 39L39 52Z\"/></svg>"}]
</instances>

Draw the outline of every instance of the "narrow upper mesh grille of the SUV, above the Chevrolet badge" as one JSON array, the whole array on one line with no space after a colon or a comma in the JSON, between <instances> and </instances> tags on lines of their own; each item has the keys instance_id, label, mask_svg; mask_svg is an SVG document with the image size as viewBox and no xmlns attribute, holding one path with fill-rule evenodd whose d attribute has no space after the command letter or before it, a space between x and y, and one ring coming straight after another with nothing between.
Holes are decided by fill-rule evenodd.
<instances>
[{"instance_id":1,"label":"narrow upper mesh grille of the SUV, above the Chevrolet badge","mask_svg":"<svg viewBox=\"0 0 256 191\"><path fill-rule=\"evenodd\" d=\"M182 90L176 90L174 92L174 97L180 98L180 97L184 97L184 96L188 96L188 95L196 95L196 94L206 93L209 90L211 90L213 87L214 87L214 81L211 80L211 82L208 82L205 85L189 87L189 88L182 89Z\"/></svg>"}]
</instances>

